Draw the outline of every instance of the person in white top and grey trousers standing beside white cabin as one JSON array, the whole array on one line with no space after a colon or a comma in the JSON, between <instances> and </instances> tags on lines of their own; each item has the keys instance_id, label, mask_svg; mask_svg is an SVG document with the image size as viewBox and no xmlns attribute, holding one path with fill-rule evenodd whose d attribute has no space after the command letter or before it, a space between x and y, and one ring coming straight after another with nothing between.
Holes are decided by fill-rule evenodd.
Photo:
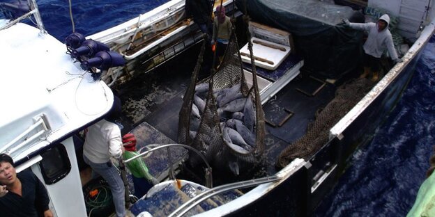
<instances>
[{"instance_id":1,"label":"person in white top and grey trousers standing beside white cabin","mask_svg":"<svg viewBox=\"0 0 435 217\"><path fill-rule=\"evenodd\" d=\"M92 168L92 177L101 176L109 184L112 191L116 216L124 217L125 187L123 180L110 161L111 157L121 159L124 152L121 129L116 120L121 117L121 99L114 96L112 109L105 119L96 122L86 129L83 146L83 159Z\"/></svg>"}]
</instances>

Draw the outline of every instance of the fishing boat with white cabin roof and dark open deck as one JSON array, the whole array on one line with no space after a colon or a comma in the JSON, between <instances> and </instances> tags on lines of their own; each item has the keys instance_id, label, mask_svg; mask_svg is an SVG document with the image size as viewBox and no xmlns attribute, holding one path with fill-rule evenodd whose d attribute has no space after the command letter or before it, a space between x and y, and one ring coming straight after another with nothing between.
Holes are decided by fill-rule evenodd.
<instances>
[{"instance_id":1,"label":"fishing boat with white cabin roof and dark open deck","mask_svg":"<svg viewBox=\"0 0 435 217\"><path fill-rule=\"evenodd\" d=\"M139 157L160 181L142 198L131 201L133 214L266 216L275 211L277 216L310 216L351 163L351 154L370 140L394 108L412 77L420 51L434 35L435 21L431 1L418 1L418 6L406 1L304 2L312 4L308 7L301 2L298 6L310 10L296 8L298 13L266 0L215 2L234 18L238 52L249 51L247 42L257 44L253 54L241 57L240 62L248 86L259 87L266 122L264 152L260 163L239 174L234 170L225 173L225 168L216 168L210 161L213 156L190 143L178 143L183 97L201 46L206 45L204 34L185 15L185 1L169 1L119 26L86 36L86 40L72 34L66 45L45 31L34 0L2 3L10 18L0 20L0 47L7 54L0 67L2 72L12 73L5 74L1 88L4 98L16 103L3 106L8 115L3 115L0 126L8 133L0 136L0 152L13 156L17 171L30 168L45 184L55 216L91 215L98 207L89 207L90 182L85 177L89 167L80 156L81 131L105 117L114 90L124 104L122 132L135 134L142 152ZM335 74L345 72L346 67L314 61L319 54L332 53L301 46L308 40L321 46L322 41L313 40L315 33L296 31L292 22L284 22L293 17L288 20L298 20L312 27L312 32L353 34L340 26L342 19L352 15L351 8L343 4L383 8L400 18L397 29L412 46L402 56L403 63L393 65L379 82ZM331 12L333 17L329 17ZM365 11L366 15L370 12ZM252 22L245 23L243 13L250 15ZM20 22L29 16L36 27ZM254 38L248 38L245 29ZM258 52L260 48L271 54L282 51L277 47L287 52L278 61ZM317 49L318 54L307 53L310 49ZM11 81L24 83L26 88L11 93L17 89L17 82ZM350 81L361 83L351 86ZM346 98L349 87L359 88L363 95ZM344 96L339 100L338 92ZM333 115L335 110L339 113ZM325 118L323 122L319 117ZM321 126L326 130L317 130ZM300 145L310 150L293 149ZM193 156L201 166L189 163ZM275 167L277 158L285 160L279 167Z\"/></svg>"}]
</instances>

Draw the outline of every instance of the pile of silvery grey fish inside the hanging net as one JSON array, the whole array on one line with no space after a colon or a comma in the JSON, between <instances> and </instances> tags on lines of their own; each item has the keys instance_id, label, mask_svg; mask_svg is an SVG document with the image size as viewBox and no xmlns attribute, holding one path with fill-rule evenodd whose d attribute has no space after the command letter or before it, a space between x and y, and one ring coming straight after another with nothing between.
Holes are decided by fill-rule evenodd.
<instances>
[{"instance_id":1,"label":"pile of silvery grey fish inside the hanging net","mask_svg":"<svg viewBox=\"0 0 435 217\"><path fill-rule=\"evenodd\" d=\"M225 143L232 150L248 154L256 145L256 111L252 104L252 97L243 96L241 84L231 88L214 89L213 96L216 99L217 114L220 118L220 132ZM201 123L201 115L206 107L208 83L199 83L195 86L190 115L190 137L195 138ZM202 126L206 127L206 124ZM205 135L211 137L211 135ZM206 139L206 143L212 138Z\"/></svg>"}]
</instances>

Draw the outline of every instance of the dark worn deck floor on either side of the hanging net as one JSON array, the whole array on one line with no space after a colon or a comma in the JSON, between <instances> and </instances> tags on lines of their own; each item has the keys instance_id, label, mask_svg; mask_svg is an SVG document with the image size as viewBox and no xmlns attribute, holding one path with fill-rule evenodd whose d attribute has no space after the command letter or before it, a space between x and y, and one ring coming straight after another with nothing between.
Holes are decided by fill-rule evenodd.
<instances>
[{"instance_id":1,"label":"dark worn deck floor on either side of the hanging net","mask_svg":"<svg viewBox=\"0 0 435 217\"><path fill-rule=\"evenodd\" d=\"M178 113L194 66L194 61L189 56L197 56L194 55L197 51L198 48L192 49L188 51L192 55L178 56L165 67L119 88L124 111L123 134L134 131L135 127L146 122L171 140L177 140ZM179 63L183 63L183 66ZM323 88L320 89L320 86ZM255 172L255 176L273 175L277 172L277 156L285 147L305 134L316 112L328 104L334 95L333 84L325 84L303 72L264 104L268 123L266 161ZM286 120L287 118L289 119Z\"/></svg>"}]
</instances>

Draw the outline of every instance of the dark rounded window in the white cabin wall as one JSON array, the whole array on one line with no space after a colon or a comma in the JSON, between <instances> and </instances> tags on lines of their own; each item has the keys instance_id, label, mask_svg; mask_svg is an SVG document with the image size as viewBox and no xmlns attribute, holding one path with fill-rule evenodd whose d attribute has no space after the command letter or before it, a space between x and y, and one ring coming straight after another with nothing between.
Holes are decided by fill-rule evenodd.
<instances>
[{"instance_id":1,"label":"dark rounded window in the white cabin wall","mask_svg":"<svg viewBox=\"0 0 435 217\"><path fill-rule=\"evenodd\" d=\"M41 156L43 156L43 160L40 161L40 168L46 184L59 182L70 172L71 163L63 145L56 145Z\"/></svg>"}]
</instances>

